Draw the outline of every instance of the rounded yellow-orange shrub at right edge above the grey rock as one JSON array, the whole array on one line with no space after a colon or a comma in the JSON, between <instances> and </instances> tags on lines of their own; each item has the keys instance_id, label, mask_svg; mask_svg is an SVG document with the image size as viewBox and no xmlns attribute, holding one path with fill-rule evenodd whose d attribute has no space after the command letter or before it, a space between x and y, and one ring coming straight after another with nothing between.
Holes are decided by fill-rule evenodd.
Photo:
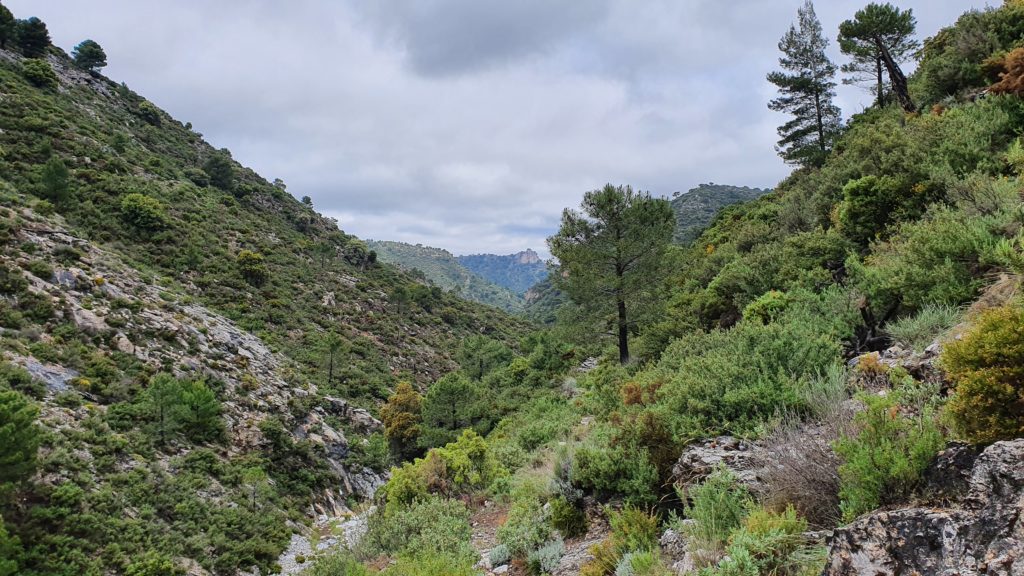
<instances>
[{"instance_id":1,"label":"rounded yellow-orange shrub at right edge above the grey rock","mask_svg":"<svg viewBox=\"0 0 1024 576\"><path fill-rule=\"evenodd\" d=\"M956 385L946 410L961 436L979 444L1024 436L1024 310L983 313L946 345L941 365Z\"/></svg>"}]
</instances>

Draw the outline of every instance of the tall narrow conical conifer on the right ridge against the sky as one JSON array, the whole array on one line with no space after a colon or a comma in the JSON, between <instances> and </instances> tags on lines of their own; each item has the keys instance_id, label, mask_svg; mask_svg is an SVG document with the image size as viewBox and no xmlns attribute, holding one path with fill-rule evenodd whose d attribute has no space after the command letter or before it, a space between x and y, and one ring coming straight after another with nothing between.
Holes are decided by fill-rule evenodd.
<instances>
[{"instance_id":1,"label":"tall narrow conical conifer on the right ridge against the sky","mask_svg":"<svg viewBox=\"0 0 1024 576\"><path fill-rule=\"evenodd\" d=\"M781 139L776 147L791 164L819 166L839 133L840 110L833 104L836 65L825 55L827 46L814 5L806 0L797 10L797 24L778 43L782 71L768 75L768 81L779 89L768 108L794 117L779 126Z\"/></svg>"}]
</instances>

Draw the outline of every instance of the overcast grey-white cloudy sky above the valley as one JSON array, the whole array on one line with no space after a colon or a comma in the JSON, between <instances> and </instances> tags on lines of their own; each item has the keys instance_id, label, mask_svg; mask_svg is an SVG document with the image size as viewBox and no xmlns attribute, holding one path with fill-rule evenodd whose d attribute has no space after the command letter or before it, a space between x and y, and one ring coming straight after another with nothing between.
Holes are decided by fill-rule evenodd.
<instances>
[{"instance_id":1,"label":"overcast grey-white cloudy sky above the valley","mask_svg":"<svg viewBox=\"0 0 1024 576\"><path fill-rule=\"evenodd\" d=\"M773 187L802 0L3 0L362 238L534 248L588 190ZM866 0L819 0L835 44ZM898 1L922 37L985 1ZM998 3L998 2L996 2ZM844 115L870 96L841 87Z\"/></svg>"}]
</instances>

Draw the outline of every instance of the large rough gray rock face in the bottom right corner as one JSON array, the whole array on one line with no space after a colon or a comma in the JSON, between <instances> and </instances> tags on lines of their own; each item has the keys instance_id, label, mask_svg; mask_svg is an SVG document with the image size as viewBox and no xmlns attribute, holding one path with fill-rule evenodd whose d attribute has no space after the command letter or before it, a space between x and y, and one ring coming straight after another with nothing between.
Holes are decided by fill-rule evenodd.
<instances>
[{"instance_id":1,"label":"large rough gray rock face in the bottom right corner","mask_svg":"<svg viewBox=\"0 0 1024 576\"><path fill-rule=\"evenodd\" d=\"M836 531L823 576L1024 574L1024 439L974 462L958 505L876 512Z\"/></svg>"}]
</instances>

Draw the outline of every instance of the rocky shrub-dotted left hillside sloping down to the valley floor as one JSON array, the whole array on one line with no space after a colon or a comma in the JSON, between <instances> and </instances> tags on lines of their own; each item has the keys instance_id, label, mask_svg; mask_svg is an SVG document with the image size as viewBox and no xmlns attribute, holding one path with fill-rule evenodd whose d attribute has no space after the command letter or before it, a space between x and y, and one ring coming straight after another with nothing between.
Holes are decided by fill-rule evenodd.
<instances>
[{"instance_id":1,"label":"rocky shrub-dotted left hillside sloping down to the valley floor","mask_svg":"<svg viewBox=\"0 0 1024 576\"><path fill-rule=\"evenodd\" d=\"M41 427L38 476L0 475L18 574L266 573L382 482L399 380L525 333L56 48L0 50L0 415Z\"/></svg>"}]
</instances>

